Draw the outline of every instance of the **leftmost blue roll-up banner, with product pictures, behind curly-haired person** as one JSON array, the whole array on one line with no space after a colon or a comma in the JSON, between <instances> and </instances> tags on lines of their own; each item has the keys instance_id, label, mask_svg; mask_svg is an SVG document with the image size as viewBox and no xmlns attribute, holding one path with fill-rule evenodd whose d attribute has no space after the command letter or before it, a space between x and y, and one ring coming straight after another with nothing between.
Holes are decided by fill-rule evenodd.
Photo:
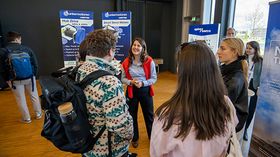
<instances>
[{"instance_id":1,"label":"leftmost blue roll-up banner, with product pictures, behind curly-haired person","mask_svg":"<svg viewBox=\"0 0 280 157\"><path fill-rule=\"evenodd\" d=\"M64 66L75 66L80 43L93 31L93 12L61 10L59 15Z\"/></svg>"}]
</instances>

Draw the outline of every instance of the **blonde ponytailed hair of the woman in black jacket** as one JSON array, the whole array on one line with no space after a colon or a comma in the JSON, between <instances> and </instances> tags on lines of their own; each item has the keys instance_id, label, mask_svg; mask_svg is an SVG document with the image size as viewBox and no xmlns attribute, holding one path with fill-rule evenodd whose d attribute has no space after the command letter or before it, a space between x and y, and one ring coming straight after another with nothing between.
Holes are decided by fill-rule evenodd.
<instances>
[{"instance_id":1,"label":"blonde ponytailed hair of the woman in black jacket","mask_svg":"<svg viewBox=\"0 0 280 157\"><path fill-rule=\"evenodd\" d=\"M228 47L237 52L238 59L241 59L242 71L244 78L248 81L248 62L246 61L245 46L240 38L225 38L222 42L225 42Z\"/></svg>"}]
</instances>

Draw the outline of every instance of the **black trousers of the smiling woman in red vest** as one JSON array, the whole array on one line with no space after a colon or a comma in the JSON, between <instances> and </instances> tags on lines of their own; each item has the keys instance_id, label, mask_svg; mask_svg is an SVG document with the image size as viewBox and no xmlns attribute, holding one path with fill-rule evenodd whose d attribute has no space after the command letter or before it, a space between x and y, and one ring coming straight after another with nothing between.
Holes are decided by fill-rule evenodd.
<instances>
[{"instance_id":1,"label":"black trousers of the smiling woman in red vest","mask_svg":"<svg viewBox=\"0 0 280 157\"><path fill-rule=\"evenodd\" d=\"M133 118L133 139L132 141L135 142L139 139L139 130L138 130L138 104L140 102L142 112L144 115L144 120L146 124L146 130L149 139L151 138L152 132L152 125L154 121L154 104L153 104L153 97L150 96L150 87L141 87L137 88L133 86L133 98L128 98L128 93L126 93L127 97L127 104L129 106L129 113Z\"/></svg>"}]
</instances>

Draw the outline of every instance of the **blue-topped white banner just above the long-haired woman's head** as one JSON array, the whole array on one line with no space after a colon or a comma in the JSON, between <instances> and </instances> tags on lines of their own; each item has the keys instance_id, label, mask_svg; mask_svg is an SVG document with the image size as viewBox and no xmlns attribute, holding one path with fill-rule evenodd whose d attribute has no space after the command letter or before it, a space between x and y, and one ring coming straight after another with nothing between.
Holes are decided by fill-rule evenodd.
<instances>
[{"instance_id":1,"label":"blue-topped white banner just above the long-haired woman's head","mask_svg":"<svg viewBox=\"0 0 280 157\"><path fill-rule=\"evenodd\" d=\"M204 40L214 54L219 48L220 24L191 25L189 28L189 42Z\"/></svg>"}]
</instances>

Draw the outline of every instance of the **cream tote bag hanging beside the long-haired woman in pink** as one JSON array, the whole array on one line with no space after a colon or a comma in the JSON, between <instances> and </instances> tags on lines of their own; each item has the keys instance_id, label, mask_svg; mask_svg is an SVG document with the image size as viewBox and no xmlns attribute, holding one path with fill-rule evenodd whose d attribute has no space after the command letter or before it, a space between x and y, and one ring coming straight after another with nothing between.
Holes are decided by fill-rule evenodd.
<instances>
[{"instance_id":1,"label":"cream tote bag hanging beside the long-haired woman in pink","mask_svg":"<svg viewBox=\"0 0 280 157\"><path fill-rule=\"evenodd\" d=\"M231 112L230 112L231 118L233 119L234 108L232 107L232 105L230 105L230 110L231 110ZM231 136L229 138L229 146L228 146L226 157L243 157L242 151L241 151L241 146L237 139L235 126L234 126L233 122L231 122Z\"/></svg>"}]
</instances>

